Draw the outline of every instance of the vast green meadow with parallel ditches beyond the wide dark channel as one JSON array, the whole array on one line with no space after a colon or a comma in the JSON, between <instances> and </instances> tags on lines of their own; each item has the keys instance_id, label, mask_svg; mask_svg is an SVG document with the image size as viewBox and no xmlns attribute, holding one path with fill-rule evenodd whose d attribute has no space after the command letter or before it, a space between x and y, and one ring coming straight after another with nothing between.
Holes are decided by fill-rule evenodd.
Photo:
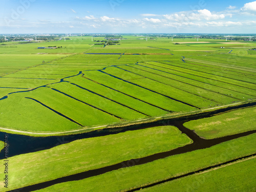
<instances>
[{"instance_id":1,"label":"vast green meadow with parallel ditches beyond the wide dark channel","mask_svg":"<svg viewBox=\"0 0 256 192\"><path fill-rule=\"evenodd\" d=\"M240 48L242 42L212 39L124 38L106 47L94 45L90 36L0 45L0 127L71 131L256 96L255 58L243 51L254 42ZM48 46L60 48L37 49ZM237 52L227 53L228 46Z\"/></svg>"}]
</instances>

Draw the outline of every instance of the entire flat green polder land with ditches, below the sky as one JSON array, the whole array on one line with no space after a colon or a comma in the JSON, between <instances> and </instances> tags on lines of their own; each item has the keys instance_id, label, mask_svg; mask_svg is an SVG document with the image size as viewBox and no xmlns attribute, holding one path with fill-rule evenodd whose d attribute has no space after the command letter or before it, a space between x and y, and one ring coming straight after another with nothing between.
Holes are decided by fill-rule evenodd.
<instances>
[{"instance_id":1,"label":"entire flat green polder land with ditches, below the sky","mask_svg":"<svg viewBox=\"0 0 256 192\"><path fill-rule=\"evenodd\" d=\"M0 191L255 191L253 49L134 34L0 43Z\"/></svg>"}]
</instances>

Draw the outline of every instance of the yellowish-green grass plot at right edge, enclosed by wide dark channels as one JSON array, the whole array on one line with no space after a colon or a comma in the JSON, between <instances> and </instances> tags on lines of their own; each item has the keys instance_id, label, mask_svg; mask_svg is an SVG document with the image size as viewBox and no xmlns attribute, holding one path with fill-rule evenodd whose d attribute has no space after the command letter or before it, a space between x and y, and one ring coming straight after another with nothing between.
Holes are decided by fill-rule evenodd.
<instances>
[{"instance_id":1,"label":"yellowish-green grass plot at right edge, enclosed by wide dark channels","mask_svg":"<svg viewBox=\"0 0 256 192\"><path fill-rule=\"evenodd\" d=\"M190 130L205 139L213 139L255 130L256 108L236 110L221 115L184 123Z\"/></svg>"}]
</instances>

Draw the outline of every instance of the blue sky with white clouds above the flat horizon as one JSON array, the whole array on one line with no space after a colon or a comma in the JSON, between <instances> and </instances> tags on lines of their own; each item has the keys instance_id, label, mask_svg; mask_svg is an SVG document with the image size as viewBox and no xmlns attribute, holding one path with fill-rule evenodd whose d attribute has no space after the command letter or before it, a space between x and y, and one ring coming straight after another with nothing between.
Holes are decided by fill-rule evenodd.
<instances>
[{"instance_id":1,"label":"blue sky with white clouds above the flat horizon","mask_svg":"<svg viewBox=\"0 0 256 192\"><path fill-rule=\"evenodd\" d=\"M0 33L255 33L256 1L2 0Z\"/></svg>"}]
</instances>

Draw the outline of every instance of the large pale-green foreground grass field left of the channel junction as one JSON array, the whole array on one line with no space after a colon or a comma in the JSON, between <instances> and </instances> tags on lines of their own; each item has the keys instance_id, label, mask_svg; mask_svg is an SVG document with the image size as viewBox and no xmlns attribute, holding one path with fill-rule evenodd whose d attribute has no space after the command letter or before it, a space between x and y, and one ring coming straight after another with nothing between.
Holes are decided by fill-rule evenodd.
<instances>
[{"instance_id":1,"label":"large pale-green foreground grass field left of the channel junction","mask_svg":"<svg viewBox=\"0 0 256 192\"><path fill-rule=\"evenodd\" d=\"M13 168L8 189L170 151L191 142L174 126L76 140L50 150L9 158Z\"/></svg>"}]
</instances>

